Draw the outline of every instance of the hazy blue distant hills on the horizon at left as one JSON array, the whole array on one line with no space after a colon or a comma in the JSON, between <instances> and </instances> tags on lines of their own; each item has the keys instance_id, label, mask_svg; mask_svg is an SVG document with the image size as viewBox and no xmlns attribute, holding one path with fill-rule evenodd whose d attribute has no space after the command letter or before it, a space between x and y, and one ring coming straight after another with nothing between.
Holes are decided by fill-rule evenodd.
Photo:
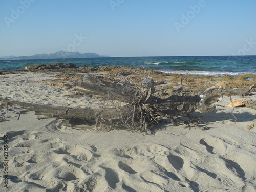
<instances>
[{"instance_id":1,"label":"hazy blue distant hills on the horizon at left","mask_svg":"<svg viewBox=\"0 0 256 192\"><path fill-rule=\"evenodd\" d=\"M56 53L42 53L42 54L35 54L32 56L5 56L0 57L1 60L3 59L68 59L68 58L94 58L94 57L110 57L105 55L98 55L96 53L79 53L79 52L67 52L67 51L58 51Z\"/></svg>"}]
</instances>

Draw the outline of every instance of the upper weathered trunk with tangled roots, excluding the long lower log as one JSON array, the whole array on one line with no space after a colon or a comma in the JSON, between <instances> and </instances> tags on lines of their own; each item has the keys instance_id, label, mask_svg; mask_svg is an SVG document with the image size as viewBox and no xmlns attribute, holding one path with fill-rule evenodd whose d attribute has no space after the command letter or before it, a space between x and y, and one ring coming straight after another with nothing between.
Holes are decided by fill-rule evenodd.
<instances>
[{"instance_id":1,"label":"upper weathered trunk with tangled roots, excluding the long lower log","mask_svg":"<svg viewBox=\"0 0 256 192\"><path fill-rule=\"evenodd\" d=\"M161 99L153 96L155 91L154 81L151 78L144 79L141 82L141 87L134 84L113 84L99 80L96 77L86 76L78 83L78 90L89 93L94 91L97 95L110 95L116 100L122 100L131 103L134 110L131 111L133 116L132 121L137 120L141 130L146 130L147 126L157 123L158 117L170 118L174 125L177 125L174 116L187 115L191 118L190 113L199 109L202 113L207 113L214 110L211 105L218 101L220 95L208 95L204 99L200 96L179 96L172 95L166 99ZM82 89L80 89L82 88ZM86 89L84 91L84 89ZM204 93L209 93L212 90L220 89L212 87ZM95 90L97 90L95 92ZM125 93L125 94L124 94Z\"/></svg>"}]
</instances>

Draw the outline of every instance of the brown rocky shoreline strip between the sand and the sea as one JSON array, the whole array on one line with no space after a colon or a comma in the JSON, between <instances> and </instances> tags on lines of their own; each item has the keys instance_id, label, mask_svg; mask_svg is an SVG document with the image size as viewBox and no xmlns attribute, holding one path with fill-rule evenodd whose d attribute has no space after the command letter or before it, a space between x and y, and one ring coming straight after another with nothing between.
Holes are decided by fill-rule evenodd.
<instances>
[{"instance_id":1,"label":"brown rocky shoreline strip between the sand and the sea","mask_svg":"<svg viewBox=\"0 0 256 192\"><path fill-rule=\"evenodd\" d=\"M194 90L195 93L198 90L202 90L214 85L222 86L226 89L230 88L248 88L253 84L256 84L256 75L246 74L240 76L198 76L198 75L181 75L181 74L167 74L160 71L154 71L153 69L135 68L130 66L81 66L76 67L73 63L54 63L54 64L42 64L42 65L29 65L24 70L12 70L12 71L0 71L1 74L13 74L13 73L51 73L58 72L52 82L52 85L64 85L65 87L74 87L77 81L82 78L84 73L93 73L98 76L102 76L104 80L112 81L116 74L129 77L134 82L139 83L140 79L144 76L154 78L156 86L159 86L159 95L172 94L177 87L184 86L184 91ZM181 80L182 79L182 80ZM255 92L253 88L251 92Z\"/></svg>"}]
</instances>

